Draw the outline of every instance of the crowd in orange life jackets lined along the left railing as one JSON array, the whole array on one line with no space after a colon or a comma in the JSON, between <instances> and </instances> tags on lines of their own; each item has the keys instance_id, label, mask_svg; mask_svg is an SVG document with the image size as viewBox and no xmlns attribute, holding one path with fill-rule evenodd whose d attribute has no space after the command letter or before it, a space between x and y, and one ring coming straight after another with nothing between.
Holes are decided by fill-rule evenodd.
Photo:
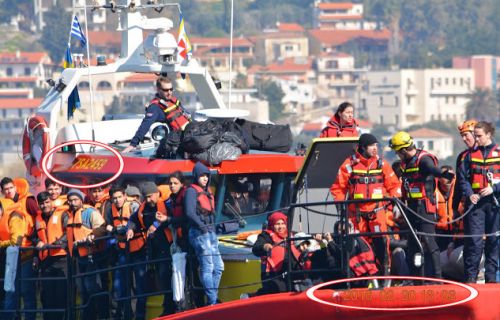
<instances>
[{"instance_id":1,"label":"crowd in orange life jackets lined along the left railing","mask_svg":"<svg viewBox=\"0 0 500 320\"><path fill-rule=\"evenodd\" d=\"M195 281L203 286L205 297L198 295L197 303L216 304L224 263L214 228L209 169L196 163L192 179L192 184L187 184L177 171L169 176L168 185L149 181L138 186L95 187L86 192L63 192L61 185L46 180L46 190L35 196L25 179L4 177L0 181L4 196L0 199L0 277L5 274L8 285L0 290L0 319L15 318L13 310L19 309L20 299L22 310L37 309L37 288L43 309L65 309L68 259L76 261L76 276L82 274L77 286L81 305L85 306L82 319L127 317L125 310L130 310L130 305L126 303L130 300L126 297L132 294L127 290L132 287L133 295L138 296L134 318L145 319L146 297L141 295L151 292L147 286L153 282L152 275L159 279L160 289L168 291L162 314L185 310L188 305L182 297L186 295L172 294L172 261L165 258L188 251L196 256L187 264L193 270L199 268ZM4 248L21 249L14 256ZM158 261L162 258L166 261ZM156 261L145 264L147 260ZM20 263L18 278L33 279L40 274L39 285L33 280L9 280L5 268L15 261ZM125 264L130 267L125 268ZM111 266L115 267L111 273L98 272ZM129 271L133 277L129 277ZM190 273L184 270L182 274ZM185 284L186 279L181 282ZM112 301L108 292L113 294ZM24 317L35 319L36 313L24 312ZM62 312L43 313L44 319L64 317Z\"/></svg>"}]
</instances>

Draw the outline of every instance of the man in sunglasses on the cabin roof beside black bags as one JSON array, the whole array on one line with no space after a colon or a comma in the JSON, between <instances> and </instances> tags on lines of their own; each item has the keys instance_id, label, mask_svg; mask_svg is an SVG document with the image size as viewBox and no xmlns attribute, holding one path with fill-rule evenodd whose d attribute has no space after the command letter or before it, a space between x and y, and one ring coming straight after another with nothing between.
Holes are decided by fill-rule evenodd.
<instances>
[{"instance_id":1,"label":"man in sunglasses on the cabin roof beside black bags","mask_svg":"<svg viewBox=\"0 0 500 320\"><path fill-rule=\"evenodd\" d=\"M190 121L190 116L182 107L181 101L173 95L173 90L172 80L169 77L158 77L156 95L146 108L146 116L130 141L130 146L126 147L122 153L136 148L155 122L166 123L172 131L184 130Z\"/></svg>"}]
</instances>

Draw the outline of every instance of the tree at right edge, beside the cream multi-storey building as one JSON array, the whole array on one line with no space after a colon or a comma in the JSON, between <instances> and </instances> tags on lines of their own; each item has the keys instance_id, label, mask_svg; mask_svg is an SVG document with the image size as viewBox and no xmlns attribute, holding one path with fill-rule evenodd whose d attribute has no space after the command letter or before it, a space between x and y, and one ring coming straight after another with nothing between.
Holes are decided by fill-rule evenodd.
<instances>
[{"instance_id":1,"label":"tree at right edge, beside the cream multi-storey building","mask_svg":"<svg viewBox=\"0 0 500 320\"><path fill-rule=\"evenodd\" d=\"M467 119L498 119L498 101L490 90L476 89L466 106Z\"/></svg>"}]
</instances>

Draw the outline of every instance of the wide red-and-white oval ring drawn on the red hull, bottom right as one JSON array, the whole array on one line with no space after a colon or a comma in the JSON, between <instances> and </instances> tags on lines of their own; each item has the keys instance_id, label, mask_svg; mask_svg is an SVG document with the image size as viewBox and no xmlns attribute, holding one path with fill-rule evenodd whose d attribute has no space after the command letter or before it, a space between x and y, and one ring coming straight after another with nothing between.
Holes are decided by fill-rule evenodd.
<instances>
[{"instance_id":1,"label":"wide red-and-white oval ring drawn on the red hull, bottom right","mask_svg":"<svg viewBox=\"0 0 500 320\"><path fill-rule=\"evenodd\" d=\"M451 302L451 303L446 303L446 304L439 304L439 305L434 305L434 306L423 306L423 307L404 307L404 308L398 308L398 307L391 307L391 308L383 308L383 307L361 307L361 306L349 306L349 305L344 305L344 304L339 304L331 301L325 301L321 300L320 298L316 297L314 295L314 292L318 289L321 289L323 287L333 285L333 284L339 284L339 283L345 283L345 282L351 282L351 281L362 281L362 280L375 280L375 279L397 279L397 280L425 280L425 281L434 281L434 282L442 282L442 283L447 283L447 284L452 284L459 286L461 288L464 288L469 291L469 296L465 299L456 301L456 302ZM414 287L418 288L418 286ZM334 291L337 292L337 291ZM340 280L334 280L334 281L329 281L325 283L321 283L317 286L314 286L312 288L309 288L306 292L306 295L309 299L327 305L327 306L333 306L333 307L339 307L339 308L346 308L346 309L355 309L355 310L368 310L368 311L417 311L417 310L430 310L430 309L440 309L440 308L447 308L451 306L456 306L462 303L466 303L469 301L474 300L478 296L478 291L474 289L473 287L460 283L460 282L455 282L451 280L445 280L445 279L435 279L435 278L426 278L426 277L403 277L403 276L378 276L378 277L360 277L360 278L347 278L347 279L340 279Z\"/></svg>"}]
</instances>

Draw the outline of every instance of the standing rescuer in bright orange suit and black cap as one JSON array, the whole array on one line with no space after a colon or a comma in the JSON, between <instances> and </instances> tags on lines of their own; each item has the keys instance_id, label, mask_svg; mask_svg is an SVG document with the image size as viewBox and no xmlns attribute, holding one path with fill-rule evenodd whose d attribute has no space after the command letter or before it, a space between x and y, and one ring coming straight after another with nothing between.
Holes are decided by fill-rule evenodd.
<instances>
[{"instance_id":1,"label":"standing rescuer in bright orange suit and black cap","mask_svg":"<svg viewBox=\"0 0 500 320\"><path fill-rule=\"evenodd\" d=\"M330 192L337 201L400 197L401 186L391 166L378 156L378 141L369 133L359 138L354 155L344 161ZM387 231L387 203L364 202L347 207L349 219L360 232ZM389 237L374 236L372 243L384 273L389 273Z\"/></svg>"}]
</instances>

